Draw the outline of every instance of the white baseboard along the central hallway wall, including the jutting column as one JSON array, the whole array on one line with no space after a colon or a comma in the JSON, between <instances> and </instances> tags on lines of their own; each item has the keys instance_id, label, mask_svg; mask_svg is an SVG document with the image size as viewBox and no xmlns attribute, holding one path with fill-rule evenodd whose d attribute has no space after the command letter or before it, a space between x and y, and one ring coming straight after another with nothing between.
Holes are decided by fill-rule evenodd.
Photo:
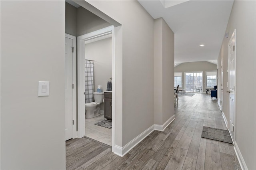
<instances>
[{"instance_id":1,"label":"white baseboard along the central hallway wall, including the jutting column","mask_svg":"<svg viewBox=\"0 0 256 170\"><path fill-rule=\"evenodd\" d=\"M125 154L127 154L132 148L134 148L139 142L141 142L144 138L146 138L151 132L154 130L164 131L164 129L175 119L175 115L170 117L163 125L152 125L148 129L146 129L144 132L139 134L136 138L131 140L128 144L124 145L124 147L115 145L113 152L114 154L117 154L118 156L123 157Z\"/></svg>"}]
</instances>

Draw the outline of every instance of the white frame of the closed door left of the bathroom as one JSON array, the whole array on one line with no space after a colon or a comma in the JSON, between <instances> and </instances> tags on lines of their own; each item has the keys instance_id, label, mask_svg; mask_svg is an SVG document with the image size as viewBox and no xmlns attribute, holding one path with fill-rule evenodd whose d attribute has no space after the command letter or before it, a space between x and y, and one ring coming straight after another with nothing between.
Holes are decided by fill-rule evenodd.
<instances>
[{"instance_id":1,"label":"white frame of the closed door left of the bathroom","mask_svg":"<svg viewBox=\"0 0 256 170\"><path fill-rule=\"evenodd\" d=\"M73 84L74 84L74 88L73 88L73 121L74 121L74 125L73 125L73 138L77 138L78 137L78 133L77 133L77 119L76 119L76 37L72 36L70 34L65 34L65 38L70 38L73 40L73 47L74 47L74 52L73 52Z\"/></svg>"}]
</instances>

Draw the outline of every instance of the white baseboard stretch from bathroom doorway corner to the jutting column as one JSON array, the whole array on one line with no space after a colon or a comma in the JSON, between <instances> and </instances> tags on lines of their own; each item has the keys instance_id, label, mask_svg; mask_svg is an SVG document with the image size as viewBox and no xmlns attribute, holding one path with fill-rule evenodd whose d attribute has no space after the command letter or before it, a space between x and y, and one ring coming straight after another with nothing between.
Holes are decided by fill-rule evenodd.
<instances>
[{"instance_id":1,"label":"white baseboard stretch from bathroom doorway corner to the jutting column","mask_svg":"<svg viewBox=\"0 0 256 170\"><path fill-rule=\"evenodd\" d=\"M124 147L115 145L114 146L114 153L118 156L123 157L125 154L127 154L132 148L134 148L140 141L142 141L144 138L146 138L151 132L153 132L154 125L146 129L144 132L139 134L136 138L131 140L128 144L124 145Z\"/></svg>"}]
</instances>

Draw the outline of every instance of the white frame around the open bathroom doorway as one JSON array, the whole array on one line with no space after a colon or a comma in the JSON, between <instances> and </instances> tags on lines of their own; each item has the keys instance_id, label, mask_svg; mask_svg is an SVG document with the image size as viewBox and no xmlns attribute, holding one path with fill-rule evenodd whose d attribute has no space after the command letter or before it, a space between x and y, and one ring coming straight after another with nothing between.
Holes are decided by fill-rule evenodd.
<instances>
[{"instance_id":1,"label":"white frame around the open bathroom doorway","mask_svg":"<svg viewBox=\"0 0 256 170\"><path fill-rule=\"evenodd\" d=\"M115 27L109 26L100 30L84 34L77 38L78 55L77 55L77 94L78 94L78 138L85 135L85 98L84 98L84 55L85 43L104 39L104 37L112 34L112 150L115 146L115 89L116 89L116 55L115 55Z\"/></svg>"}]
</instances>

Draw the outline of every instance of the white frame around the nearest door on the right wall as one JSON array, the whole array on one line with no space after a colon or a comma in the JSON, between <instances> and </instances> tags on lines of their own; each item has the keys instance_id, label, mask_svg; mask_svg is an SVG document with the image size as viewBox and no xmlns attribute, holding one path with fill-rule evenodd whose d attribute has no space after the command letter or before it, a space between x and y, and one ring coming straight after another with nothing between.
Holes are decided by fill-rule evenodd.
<instances>
[{"instance_id":1,"label":"white frame around the nearest door on the right wall","mask_svg":"<svg viewBox=\"0 0 256 170\"><path fill-rule=\"evenodd\" d=\"M232 39L234 38L235 42L234 42L234 45L235 45L235 53L234 53L234 67L235 67L235 76L234 76L234 99L235 99L235 102L234 102L234 136L231 135L231 132L230 132L230 93L228 94L228 131L230 132L230 136L233 140L233 143L234 141L236 140L236 29L234 29L234 32L228 42L228 83L229 83L229 69L230 69L230 51L229 51L229 46L230 46L230 43L232 42ZM228 84L228 90L229 89L229 84Z\"/></svg>"}]
</instances>

